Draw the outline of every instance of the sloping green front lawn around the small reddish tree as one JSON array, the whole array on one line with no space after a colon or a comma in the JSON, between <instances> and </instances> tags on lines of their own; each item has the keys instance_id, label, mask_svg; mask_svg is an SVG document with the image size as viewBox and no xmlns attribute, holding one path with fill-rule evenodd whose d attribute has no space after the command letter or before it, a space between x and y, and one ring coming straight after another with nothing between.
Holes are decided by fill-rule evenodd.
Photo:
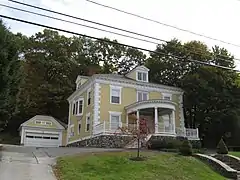
<instances>
[{"instance_id":1,"label":"sloping green front lawn around the small reddish tree","mask_svg":"<svg viewBox=\"0 0 240 180\"><path fill-rule=\"evenodd\" d=\"M59 158L60 180L223 180L193 157L171 153L142 153L146 161L131 161L135 153L108 152Z\"/></svg>"}]
</instances>

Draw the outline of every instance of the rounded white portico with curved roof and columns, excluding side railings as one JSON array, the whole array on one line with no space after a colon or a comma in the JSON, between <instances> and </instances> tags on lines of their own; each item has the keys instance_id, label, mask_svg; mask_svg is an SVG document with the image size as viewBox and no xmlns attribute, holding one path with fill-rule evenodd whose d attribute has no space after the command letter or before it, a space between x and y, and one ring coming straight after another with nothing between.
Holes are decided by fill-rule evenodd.
<instances>
[{"instance_id":1,"label":"rounded white portico with curved roof and columns, excluding side railings","mask_svg":"<svg viewBox=\"0 0 240 180\"><path fill-rule=\"evenodd\" d=\"M140 101L125 107L125 110L128 127L138 126L139 119L145 119L150 134L176 135L175 103L172 101Z\"/></svg>"}]
</instances>

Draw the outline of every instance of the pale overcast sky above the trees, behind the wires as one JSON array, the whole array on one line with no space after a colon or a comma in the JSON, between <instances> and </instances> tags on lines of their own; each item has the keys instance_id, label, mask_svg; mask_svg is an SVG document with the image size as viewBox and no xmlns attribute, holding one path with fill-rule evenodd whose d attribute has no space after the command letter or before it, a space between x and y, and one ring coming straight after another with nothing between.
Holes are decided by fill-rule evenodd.
<instances>
[{"instance_id":1,"label":"pale overcast sky above the trees, behind the wires","mask_svg":"<svg viewBox=\"0 0 240 180\"><path fill-rule=\"evenodd\" d=\"M123 14L114 10L110 10L86 0L18 0L20 2L44 7L54 11L70 14L84 19L97 21L102 24L108 24L121 29L134 31L137 33L153 36L159 39L169 41L177 38L182 42L191 40L199 40L204 42L211 48L214 45L226 48L235 58L240 59L240 0L93 0L101 4L109 5L122 9L131 13L139 14L165 24L177 26L182 29L187 29L198 34L203 34L215 39L220 39L232 44L237 44L239 47L214 41L201 36L193 35L187 32L179 31L157 23L149 22L137 17ZM46 13L45 11L27 8L17 5L8 0L0 0L1 4L23 8L38 13L44 13L61 19L74 21L77 23L95 26L106 30L123 33L120 31L100 27L80 20L67 18L64 16ZM81 27L78 25L64 23L57 20L52 20L36 15L31 15L24 12L19 12L12 9L7 9L0 6L0 14L21 18L28 21L34 21L41 24L54 26L57 28L73 31L76 33L95 36L98 38L108 37L117 39L118 42L129 44L137 47L142 47L150 50L156 48L156 44L133 40L118 35L101 32L98 30ZM5 24L13 31L21 32L25 35L33 35L36 32L42 31L43 28L33 25L23 24L20 22L3 19ZM67 36L71 34L61 33ZM126 34L126 33L123 33ZM128 34L129 35L129 34ZM131 35L131 34L130 34ZM134 36L134 35L131 35ZM136 36L135 36L136 37ZM139 37L142 38L142 37ZM152 40L153 41L153 40ZM157 42L157 41L155 41ZM236 60L237 70L240 70L240 60Z\"/></svg>"}]
</instances>

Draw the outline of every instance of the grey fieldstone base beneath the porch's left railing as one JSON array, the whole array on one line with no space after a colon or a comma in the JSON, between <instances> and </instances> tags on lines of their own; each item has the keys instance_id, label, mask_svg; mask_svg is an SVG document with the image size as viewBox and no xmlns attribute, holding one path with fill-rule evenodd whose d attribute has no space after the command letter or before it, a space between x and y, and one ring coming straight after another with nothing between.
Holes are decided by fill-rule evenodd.
<instances>
[{"instance_id":1,"label":"grey fieldstone base beneath the porch's left railing","mask_svg":"<svg viewBox=\"0 0 240 180\"><path fill-rule=\"evenodd\" d=\"M89 139L68 144L68 147L98 147L98 148L124 148L131 140L132 136L120 135L100 135Z\"/></svg>"}]
</instances>

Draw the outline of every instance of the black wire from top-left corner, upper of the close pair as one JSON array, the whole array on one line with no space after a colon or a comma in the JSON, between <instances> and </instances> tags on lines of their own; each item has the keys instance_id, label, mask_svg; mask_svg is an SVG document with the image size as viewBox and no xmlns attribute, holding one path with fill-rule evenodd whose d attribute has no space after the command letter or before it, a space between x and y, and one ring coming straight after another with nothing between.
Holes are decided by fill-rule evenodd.
<instances>
[{"instance_id":1,"label":"black wire from top-left corner, upper of the close pair","mask_svg":"<svg viewBox=\"0 0 240 180\"><path fill-rule=\"evenodd\" d=\"M140 33L133 32L133 31L129 31L129 30L126 30L126 29L121 29L121 28L117 28L117 27L114 27L114 26L110 26L110 25L98 23L98 22L95 22L95 21L83 19L83 18L76 17L76 16L72 16L72 15L69 15L69 14L64 14L64 13L57 12L57 11L53 11L53 10L50 10L50 9L46 9L46 8L34 6L34 5L31 5L31 4L22 3L22 2L15 1L15 0L9 0L9 1L11 1L11 2L13 2L13 3L21 4L21 5L23 5L23 6L28 6L28 7L35 8L35 9L40 9L40 10L47 11L47 12L50 12L50 13L59 14L59 15L62 15L62 16L70 17L70 18L73 18L73 19L78 19L78 20L85 21L85 22L88 22L88 23L97 24L97 25L104 26L104 27L107 27L107 28L111 28L111 29L115 29L115 30L127 32L127 33L130 33L130 34L142 36L142 37L149 38L149 39L153 39L153 40L158 40L158 41L165 42L165 43L169 43L169 41L167 41L167 40L163 40L163 39L159 39L159 38L156 38L156 37L152 37L152 36L140 34ZM125 36L125 37L126 37L126 36ZM187 48L186 48L186 49L187 49ZM189 52L192 52L192 53L195 53L195 54L199 54L199 55L202 54L201 51L199 51L199 53L196 53L196 52L193 52L193 51L189 51ZM224 56L224 55L221 55L221 54L218 55L218 56L223 57L223 58L229 58L228 56ZM219 58L219 59L220 59L220 58ZM232 62L231 60L228 60L228 59L220 59L220 60ZM234 60L240 61L240 59L237 59L237 58L234 58Z\"/></svg>"}]
</instances>

